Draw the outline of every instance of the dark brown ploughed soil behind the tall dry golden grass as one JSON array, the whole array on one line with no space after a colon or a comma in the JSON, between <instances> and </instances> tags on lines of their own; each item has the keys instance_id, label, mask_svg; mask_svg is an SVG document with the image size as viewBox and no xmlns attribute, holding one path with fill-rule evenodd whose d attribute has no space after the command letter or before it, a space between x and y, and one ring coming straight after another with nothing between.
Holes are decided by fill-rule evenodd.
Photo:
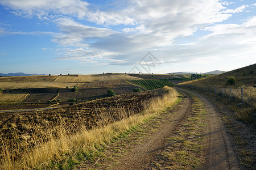
<instances>
[{"instance_id":1,"label":"dark brown ploughed soil behind the tall dry golden grass","mask_svg":"<svg viewBox=\"0 0 256 170\"><path fill-rule=\"evenodd\" d=\"M44 129L50 126L58 129L61 126L61 121L67 124L67 128L72 128L72 133L76 133L81 125L91 129L106 122L111 123L120 120L122 118L119 113L120 107L124 109L124 113L127 113L125 115L127 117L131 114L129 111L134 111L133 114L137 114L144 107L147 107L150 99L160 95L163 95L162 89L118 95L49 111L1 113L0 134L7 141L26 142L26 145L30 146L33 133L43 132ZM129 111L126 112L126 109ZM24 134L29 138L25 140L23 138ZM15 150L15 144L13 145ZM1 148L2 143L0 144L0 151ZM16 155L19 155L19 153Z\"/></svg>"}]
</instances>

